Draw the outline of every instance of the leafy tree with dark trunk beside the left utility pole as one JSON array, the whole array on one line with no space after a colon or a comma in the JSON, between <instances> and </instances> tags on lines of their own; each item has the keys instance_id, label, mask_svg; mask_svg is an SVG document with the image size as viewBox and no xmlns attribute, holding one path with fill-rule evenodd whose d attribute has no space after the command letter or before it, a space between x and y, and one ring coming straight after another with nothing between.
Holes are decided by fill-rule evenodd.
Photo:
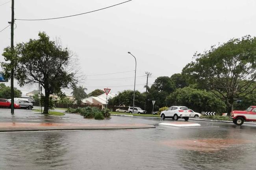
<instances>
[{"instance_id":1,"label":"leafy tree with dark trunk beside the left utility pole","mask_svg":"<svg viewBox=\"0 0 256 170\"><path fill-rule=\"evenodd\" d=\"M15 79L20 86L39 83L45 89L44 114L48 114L49 95L62 95L62 88L75 88L78 82L72 67L72 53L63 49L59 41L51 41L46 33L39 32L38 39L19 43L14 50L4 49L6 61L13 60ZM4 73L9 75L11 65L2 63Z\"/></svg>"}]
</instances>

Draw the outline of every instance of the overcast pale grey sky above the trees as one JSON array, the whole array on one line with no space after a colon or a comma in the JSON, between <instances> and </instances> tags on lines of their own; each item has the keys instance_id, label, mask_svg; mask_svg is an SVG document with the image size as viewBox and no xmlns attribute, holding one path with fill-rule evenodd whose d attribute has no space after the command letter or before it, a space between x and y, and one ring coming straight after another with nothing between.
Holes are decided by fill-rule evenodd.
<instances>
[{"instance_id":1,"label":"overcast pale grey sky above the trees","mask_svg":"<svg viewBox=\"0 0 256 170\"><path fill-rule=\"evenodd\" d=\"M8 0L0 0L4 4ZM125 0L15 0L15 18L49 18L83 13ZM0 6L0 29L11 20L11 2ZM83 75L131 71L137 76L180 73L195 51L244 35L255 36L255 0L132 0L109 9L58 20L16 21L14 42L26 42L45 31L60 37L79 57ZM0 33L0 53L10 45L10 28ZM3 57L0 56L0 60ZM131 77L127 79L118 79ZM87 76L87 93L111 88L133 89L134 72ZM108 80L109 79L109 80ZM136 90L145 91L146 77L137 77ZM7 83L9 85L9 83ZM130 86L126 86L130 85ZM16 85L17 86L17 85ZM120 87L114 87L120 86ZM33 90L36 86L21 88Z\"/></svg>"}]
</instances>

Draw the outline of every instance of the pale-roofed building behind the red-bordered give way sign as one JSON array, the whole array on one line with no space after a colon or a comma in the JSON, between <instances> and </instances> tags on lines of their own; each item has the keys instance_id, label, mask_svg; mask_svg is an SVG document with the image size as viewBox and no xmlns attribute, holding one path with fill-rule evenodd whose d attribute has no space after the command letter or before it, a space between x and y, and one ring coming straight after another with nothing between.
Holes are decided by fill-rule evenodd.
<instances>
[{"instance_id":1,"label":"pale-roofed building behind the red-bordered give way sign","mask_svg":"<svg viewBox=\"0 0 256 170\"><path fill-rule=\"evenodd\" d=\"M108 93L108 99L111 99L115 96L116 96L116 94L114 94L114 93ZM104 108L106 106L106 93L99 95L97 97L91 96L86 99L83 99L82 104L101 105L102 108Z\"/></svg>"}]
</instances>

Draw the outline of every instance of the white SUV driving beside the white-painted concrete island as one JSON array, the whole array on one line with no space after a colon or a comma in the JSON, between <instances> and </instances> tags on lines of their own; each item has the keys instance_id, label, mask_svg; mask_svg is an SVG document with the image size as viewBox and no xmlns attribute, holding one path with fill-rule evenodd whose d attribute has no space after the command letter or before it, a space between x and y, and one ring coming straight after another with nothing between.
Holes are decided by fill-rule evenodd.
<instances>
[{"instance_id":1,"label":"white SUV driving beside the white-painted concrete island","mask_svg":"<svg viewBox=\"0 0 256 170\"><path fill-rule=\"evenodd\" d=\"M178 121L179 118L182 118L187 121L191 114L186 106L171 106L167 110L161 112L160 116L162 119L173 118L173 120Z\"/></svg>"}]
</instances>

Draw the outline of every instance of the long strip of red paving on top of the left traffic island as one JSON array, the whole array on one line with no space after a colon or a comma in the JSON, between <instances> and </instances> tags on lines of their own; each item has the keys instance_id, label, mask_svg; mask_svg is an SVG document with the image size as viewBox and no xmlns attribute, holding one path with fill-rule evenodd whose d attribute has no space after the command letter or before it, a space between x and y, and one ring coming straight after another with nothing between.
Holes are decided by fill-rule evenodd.
<instances>
[{"instance_id":1,"label":"long strip of red paving on top of the left traffic island","mask_svg":"<svg viewBox=\"0 0 256 170\"><path fill-rule=\"evenodd\" d=\"M78 123L24 123L0 122L0 128L5 127L49 127L49 126L145 126L145 124L78 124Z\"/></svg>"}]
</instances>

